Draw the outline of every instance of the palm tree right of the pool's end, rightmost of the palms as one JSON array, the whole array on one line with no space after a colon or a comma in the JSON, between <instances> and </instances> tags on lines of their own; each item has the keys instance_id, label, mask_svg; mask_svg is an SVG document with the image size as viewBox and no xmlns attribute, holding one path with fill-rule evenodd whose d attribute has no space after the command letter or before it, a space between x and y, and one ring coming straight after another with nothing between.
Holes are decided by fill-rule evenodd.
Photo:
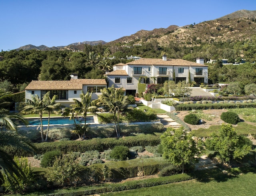
<instances>
[{"instance_id":1,"label":"palm tree right of the pool's end, rightmost of the palms","mask_svg":"<svg viewBox=\"0 0 256 196\"><path fill-rule=\"evenodd\" d=\"M128 96L124 96L124 91L122 88L115 89L114 85L109 88L104 88L101 90L102 94L99 96L98 100L103 105L109 109L109 112L114 114L114 122L117 137L120 137L120 115L130 104Z\"/></svg>"}]
</instances>

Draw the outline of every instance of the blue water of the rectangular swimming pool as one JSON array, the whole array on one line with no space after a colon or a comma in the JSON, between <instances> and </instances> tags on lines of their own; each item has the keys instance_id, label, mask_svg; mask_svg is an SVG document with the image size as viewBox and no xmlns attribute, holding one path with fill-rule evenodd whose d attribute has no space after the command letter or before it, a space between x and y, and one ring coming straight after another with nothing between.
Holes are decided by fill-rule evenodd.
<instances>
[{"instance_id":1,"label":"blue water of the rectangular swimming pool","mask_svg":"<svg viewBox=\"0 0 256 196\"><path fill-rule=\"evenodd\" d=\"M40 125L40 119L30 119L28 120L29 125ZM42 120L43 125L48 125L48 118ZM76 119L76 123L84 123L84 119ZM93 116L86 117L86 123L94 123ZM50 118L50 125L63 125L63 124L74 124L74 120L69 120L69 118Z\"/></svg>"}]
</instances>

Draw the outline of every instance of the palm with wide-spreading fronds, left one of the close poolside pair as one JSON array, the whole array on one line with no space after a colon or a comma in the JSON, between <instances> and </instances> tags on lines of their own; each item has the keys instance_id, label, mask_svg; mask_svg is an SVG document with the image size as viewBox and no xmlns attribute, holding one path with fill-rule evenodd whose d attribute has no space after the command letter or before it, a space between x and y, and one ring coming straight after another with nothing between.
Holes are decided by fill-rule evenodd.
<instances>
[{"instance_id":1,"label":"palm with wide-spreading fronds, left one of the close poolside pair","mask_svg":"<svg viewBox=\"0 0 256 196\"><path fill-rule=\"evenodd\" d=\"M41 139L44 142L44 128L42 123L43 113L48 113L48 100L49 100L50 92L47 92L42 100L36 94L35 96L31 96L31 100L28 100L27 105L21 111L24 114L39 114L40 118L40 132Z\"/></svg>"}]
</instances>

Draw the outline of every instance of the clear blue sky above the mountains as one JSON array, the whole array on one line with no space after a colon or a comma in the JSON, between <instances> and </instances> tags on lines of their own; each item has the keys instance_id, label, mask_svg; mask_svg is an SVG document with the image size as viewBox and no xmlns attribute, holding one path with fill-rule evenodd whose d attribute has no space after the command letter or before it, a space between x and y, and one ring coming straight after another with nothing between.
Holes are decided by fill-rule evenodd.
<instances>
[{"instance_id":1,"label":"clear blue sky above the mountains","mask_svg":"<svg viewBox=\"0 0 256 196\"><path fill-rule=\"evenodd\" d=\"M256 10L255 0L0 0L0 50L113 41L137 31Z\"/></svg>"}]
</instances>

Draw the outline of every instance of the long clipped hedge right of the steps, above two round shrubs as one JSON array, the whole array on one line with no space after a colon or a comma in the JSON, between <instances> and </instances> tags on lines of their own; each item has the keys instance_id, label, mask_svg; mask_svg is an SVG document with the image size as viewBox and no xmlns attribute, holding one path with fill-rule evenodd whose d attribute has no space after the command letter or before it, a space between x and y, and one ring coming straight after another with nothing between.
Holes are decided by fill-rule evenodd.
<instances>
[{"instance_id":1,"label":"long clipped hedge right of the steps, above two round shrubs","mask_svg":"<svg viewBox=\"0 0 256 196\"><path fill-rule=\"evenodd\" d=\"M256 108L256 103L240 103L240 104L179 104L174 106L177 111L183 110L208 110L208 109L231 109L231 108Z\"/></svg>"}]
</instances>

